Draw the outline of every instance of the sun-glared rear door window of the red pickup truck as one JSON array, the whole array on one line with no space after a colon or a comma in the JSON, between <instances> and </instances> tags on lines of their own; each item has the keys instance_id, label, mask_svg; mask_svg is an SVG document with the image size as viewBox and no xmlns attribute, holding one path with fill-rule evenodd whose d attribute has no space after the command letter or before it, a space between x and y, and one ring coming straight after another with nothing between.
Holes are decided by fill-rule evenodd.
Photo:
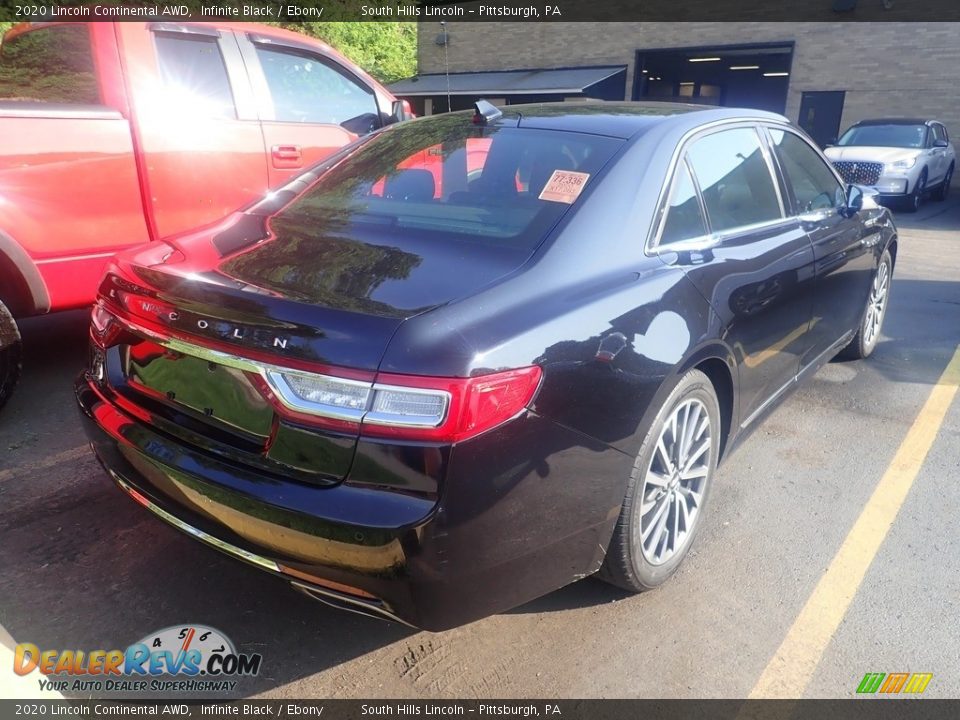
<instances>
[{"instance_id":1,"label":"sun-glared rear door window of the red pickup truck","mask_svg":"<svg viewBox=\"0 0 960 720\"><path fill-rule=\"evenodd\" d=\"M160 77L173 102L206 117L237 117L216 38L157 35L156 40Z\"/></svg>"}]
</instances>

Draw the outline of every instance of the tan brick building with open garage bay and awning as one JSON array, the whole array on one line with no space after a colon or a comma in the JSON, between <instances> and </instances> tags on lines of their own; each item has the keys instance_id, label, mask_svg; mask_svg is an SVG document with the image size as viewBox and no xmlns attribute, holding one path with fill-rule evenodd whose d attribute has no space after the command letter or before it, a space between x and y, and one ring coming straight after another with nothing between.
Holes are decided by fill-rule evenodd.
<instances>
[{"instance_id":1,"label":"tan brick building with open garage bay and awning","mask_svg":"<svg viewBox=\"0 0 960 720\"><path fill-rule=\"evenodd\" d=\"M826 143L868 117L931 117L960 137L960 23L421 23L419 113L481 95L757 107Z\"/></svg>"}]
</instances>

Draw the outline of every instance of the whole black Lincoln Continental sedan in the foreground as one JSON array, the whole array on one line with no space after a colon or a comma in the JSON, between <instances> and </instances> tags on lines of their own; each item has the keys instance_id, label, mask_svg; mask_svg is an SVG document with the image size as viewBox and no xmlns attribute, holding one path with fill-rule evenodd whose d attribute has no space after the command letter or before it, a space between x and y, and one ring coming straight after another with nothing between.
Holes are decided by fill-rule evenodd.
<instances>
[{"instance_id":1,"label":"whole black Lincoln Continental sedan in the foreground","mask_svg":"<svg viewBox=\"0 0 960 720\"><path fill-rule=\"evenodd\" d=\"M896 253L778 115L481 101L116 258L77 398L163 520L439 630L669 578L718 461L873 351Z\"/></svg>"}]
</instances>

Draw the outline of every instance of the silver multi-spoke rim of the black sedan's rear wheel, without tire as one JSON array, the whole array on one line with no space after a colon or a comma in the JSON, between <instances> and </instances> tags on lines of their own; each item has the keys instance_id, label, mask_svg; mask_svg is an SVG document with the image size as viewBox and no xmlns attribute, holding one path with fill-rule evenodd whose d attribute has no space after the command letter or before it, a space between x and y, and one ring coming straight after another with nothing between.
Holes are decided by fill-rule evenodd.
<instances>
[{"instance_id":1,"label":"silver multi-spoke rim of the black sedan's rear wheel, without tire","mask_svg":"<svg viewBox=\"0 0 960 720\"><path fill-rule=\"evenodd\" d=\"M703 504L709 481L713 428L696 399L679 405L664 423L643 481L640 545L651 565L683 549Z\"/></svg>"}]
</instances>

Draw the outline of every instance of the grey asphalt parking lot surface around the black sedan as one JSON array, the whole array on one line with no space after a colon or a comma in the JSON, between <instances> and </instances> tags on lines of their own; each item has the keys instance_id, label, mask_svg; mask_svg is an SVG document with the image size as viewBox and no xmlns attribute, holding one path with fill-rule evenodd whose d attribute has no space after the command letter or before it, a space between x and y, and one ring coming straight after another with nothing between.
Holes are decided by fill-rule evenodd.
<instances>
[{"instance_id":1,"label":"grey asphalt parking lot surface around the black sedan","mask_svg":"<svg viewBox=\"0 0 960 720\"><path fill-rule=\"evenodd\" d=\"M795 668L771 664L788 637L807 661L807 697L853 696L867 672L930 672L926 696L960 695L960 398L924 414L960 345L960 195L897 222L874 356L823 368L726 460L669 583L631 596L587 579L439 634L328 609L132 503L93 459L74 408L86 313L27 321L23 382L0 414L0 625L60 649L209 625L263 655L233 693L245 696L775 695L793 687ZM910 433L928 452L902 449ZM916 463L915 477L895 458ZM874 496L891 477L902 504ZM855 557L862 582L828 596L845 608L838 624L797 625L831 567L849 580L835 558L859 541L866 507L894 520L867 529L878 546Z\"/></svg>"}]
</instances>

